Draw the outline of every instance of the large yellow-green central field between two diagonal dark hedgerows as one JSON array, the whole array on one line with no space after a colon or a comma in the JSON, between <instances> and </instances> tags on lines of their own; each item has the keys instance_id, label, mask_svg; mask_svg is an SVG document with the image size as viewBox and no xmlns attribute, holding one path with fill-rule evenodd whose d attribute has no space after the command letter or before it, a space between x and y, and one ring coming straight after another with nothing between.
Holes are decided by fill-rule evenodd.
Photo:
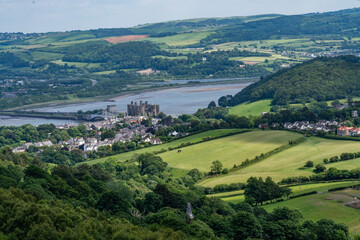
<instances>
[{"instance_id":1,"label":"large yellow-green central field between two diagonal dark hedgerows","mask_svg":"<svg viewBox=\"0 0 360 240\"><path fill-rule=\"evenodd\" d=\"M181 153L169 151L159 156L173 168L197 168L208 172L215 160L222 162L224 168L231 168L299 137L298 133L286 131L254 131L185 147Z\"/></svg>"}]
</instances>

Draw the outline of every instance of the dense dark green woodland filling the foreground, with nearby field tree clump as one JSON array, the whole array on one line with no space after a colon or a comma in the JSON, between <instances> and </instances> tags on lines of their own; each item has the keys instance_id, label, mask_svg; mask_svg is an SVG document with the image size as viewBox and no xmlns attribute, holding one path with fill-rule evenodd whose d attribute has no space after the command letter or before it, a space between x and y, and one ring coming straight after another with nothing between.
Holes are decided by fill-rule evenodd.
<instances>
[{"instance_id":1,"label":"dense dark green woodland filling the foreground, with nearby field tree clump","mask_svg":"<svg viewBox=\"0 0 360 240\"><path fill-rule=\"evenodd\" d=\"M201 174L169 176L166 163L141 154L132 163L50 167L26 154L0 152L1 239L348 239L348 227L302 221L298 210L267 213L228 204L195 186ZM259 182L260 181L260 182ZM260 183L260 185L258 184ZM256 192L273 192L264 198ZM279 197L271 179L249 180L259 202ZM270 190L272 189L272 190ZM254 195L255 194L255 195ZM281 194L280 194L281 195ZM187 202L195 216L186 214Z\"/></svg>"}]
</instances>

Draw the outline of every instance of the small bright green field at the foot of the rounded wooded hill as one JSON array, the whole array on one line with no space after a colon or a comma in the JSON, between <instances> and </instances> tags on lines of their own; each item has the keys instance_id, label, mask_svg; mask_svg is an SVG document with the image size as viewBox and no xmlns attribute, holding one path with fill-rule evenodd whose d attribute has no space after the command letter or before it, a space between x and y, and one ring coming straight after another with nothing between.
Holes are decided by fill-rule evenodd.
<instances>
[{"instance_id":1,"label":"small bright green field at the foot of the rounded wooded hill","mask_svg":"<svg viewBox=\"0 0 360 240\"><path fill-rule=\"evenodd\" d=\"M238 116L258 116L262 112L269 112L271 100L261 100L256 102L246 102L232 107L229 111L230 114Z\"/></svg>"}]
</instances>

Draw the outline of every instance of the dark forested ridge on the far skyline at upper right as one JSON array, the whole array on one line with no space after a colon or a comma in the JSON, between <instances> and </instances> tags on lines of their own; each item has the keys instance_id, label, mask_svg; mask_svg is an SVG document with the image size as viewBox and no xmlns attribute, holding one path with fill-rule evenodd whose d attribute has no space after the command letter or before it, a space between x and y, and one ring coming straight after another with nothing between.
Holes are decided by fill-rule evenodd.
<instances>
[{"instance_id":1,"label":"dark forested ridge on the far skyline at upper right","mask_svg":"<svg viewBox=\"0 0 360 240\"><path fill-rule=\"evenodd\" d=\"M322 14L281 16L241 23L219 29L202 43L234 42L280 38L281 36L331 35L359 36L360 10L351 9Z\"/></svg>"}]
</instances>

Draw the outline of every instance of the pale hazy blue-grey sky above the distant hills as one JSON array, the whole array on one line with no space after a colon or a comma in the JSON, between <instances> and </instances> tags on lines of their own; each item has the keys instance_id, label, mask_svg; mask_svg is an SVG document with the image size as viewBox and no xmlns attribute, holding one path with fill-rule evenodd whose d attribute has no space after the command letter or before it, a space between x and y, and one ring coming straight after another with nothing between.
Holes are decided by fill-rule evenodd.
<instances>
[{"instance_id":1,"label":"pale hazy blue-grey sky above the distant hills","mask_svg":"<svg viewBox=\"0 0 360 240\"><path fill-rule=\"evenodd\" d=\"M0 0L0 32L118 28L189 18L354 7L360 7L360 0Z\"/></svg>"}]
</instances>

